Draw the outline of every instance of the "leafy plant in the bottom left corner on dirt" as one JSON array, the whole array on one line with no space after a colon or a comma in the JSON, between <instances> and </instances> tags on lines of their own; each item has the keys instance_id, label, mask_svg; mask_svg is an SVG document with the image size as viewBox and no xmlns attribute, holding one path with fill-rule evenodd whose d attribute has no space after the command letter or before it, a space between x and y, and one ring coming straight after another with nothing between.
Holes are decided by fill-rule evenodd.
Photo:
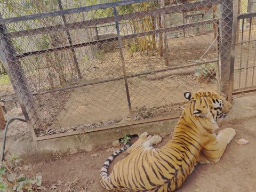
<instances>
[{"instance_id":1,"label":"leafy plant in the bottom left corner on dirt","mask_svg":"<svg viewBox=\"0 0 256 192\"><path fill-rule=\"evenodd\" d=\"M30 171L29 171L30 170ZM42 175L34 174L31 167L22 165L17 155L12 155L0 168L0 191L36 191L42 185Z\"/></svg>"}]
</instances>

